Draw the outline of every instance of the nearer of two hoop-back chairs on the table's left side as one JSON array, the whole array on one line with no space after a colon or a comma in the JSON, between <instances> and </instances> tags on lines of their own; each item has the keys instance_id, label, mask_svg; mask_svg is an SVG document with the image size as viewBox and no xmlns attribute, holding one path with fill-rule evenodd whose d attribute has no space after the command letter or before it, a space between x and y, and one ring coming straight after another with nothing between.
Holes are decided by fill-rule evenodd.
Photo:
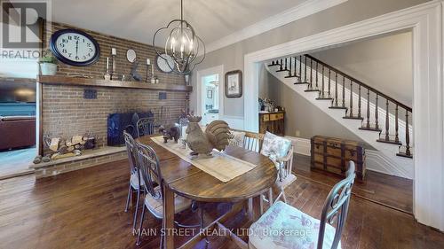
<instances>
[{"instance_id":1,"label":"nearer of two hoop-back chairs on the table's left side","mask_svg":"<svg viewBox=\"0 0 444 249\"><path fill-rule=\"evenodd\" d=\"M146 144L137 143L137 154L140 166L140 172L145 189L144 205L142 207L142 214L140 216L139 232L136 245L140 245L140 235L145 219L145 211L153 214L156 219L163 219L163 178L162 171L155 150ZM192 200L178 195L174 196L174 214L185 211L192 205ZM201 212L200 224L198 225L183 225L175 222L176 225L183 228L194 228L203 226L203 209L199 208ZM163 238L161 238L161 248L163 245Z\"/></svg>"}]
</instances>

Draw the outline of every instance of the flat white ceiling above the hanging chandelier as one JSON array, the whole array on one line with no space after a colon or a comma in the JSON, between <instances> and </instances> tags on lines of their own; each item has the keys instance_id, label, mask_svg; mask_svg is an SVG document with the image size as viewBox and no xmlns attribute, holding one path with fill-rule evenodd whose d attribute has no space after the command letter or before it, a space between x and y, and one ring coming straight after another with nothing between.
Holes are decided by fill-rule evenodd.
<instances>
[{"instance_id":1,"label":"flat white ceiling above the hanging chandelier","mask_svg":"<svg viewBox=\"0 0 444 249\"><path fill-rule=\"evenodd\" d=\"M305 0L184 0L184 19L204 43L271 17ZM180 17L179 0L56 0L52 20L152 43L155 31Z\"/></svg>"}]
</instances>

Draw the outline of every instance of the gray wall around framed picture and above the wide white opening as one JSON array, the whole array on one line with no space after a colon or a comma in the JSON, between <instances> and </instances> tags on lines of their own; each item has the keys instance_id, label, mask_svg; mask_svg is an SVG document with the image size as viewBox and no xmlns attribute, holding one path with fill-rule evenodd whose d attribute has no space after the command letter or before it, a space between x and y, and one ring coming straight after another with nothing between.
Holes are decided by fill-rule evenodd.
<instances>
[{"instance_id":1,"label":"gray wall around framed picture and above the wide white opening","mask_svg":"<svg viewBox=\"0 0 444 249\"><path fill-rule=\"evenodd\" d=\"M277 44L286 43L308 35L347 24L376 17L388 12L398 11L416 4L428 2L427 0L349 0L343 4L329 8L323 12L315 13L304 19L298 19L285 26L274 28L261 35L253 36L239 43L212 51L206 55L205 60L194 70L224 65L226 72L236 69L243 71L243 58L245 54L259 51ZM196 74L192 75L192 84L196 86ZM223 86L223 85L222 85ZM222 87L223 89L223 87ZM196 110L196 93L191 95L190 107ZM243 97L225 99L225 114L230 116L243 116Z\"/></svg>"}]
</instances>

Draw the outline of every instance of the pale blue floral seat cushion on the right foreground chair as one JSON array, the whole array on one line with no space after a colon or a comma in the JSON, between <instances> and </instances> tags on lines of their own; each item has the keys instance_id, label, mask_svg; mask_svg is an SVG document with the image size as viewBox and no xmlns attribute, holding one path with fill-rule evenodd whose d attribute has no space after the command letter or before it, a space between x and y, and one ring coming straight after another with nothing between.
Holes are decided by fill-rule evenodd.
<instances>
[{"instance_id":1,"label":"pale blue floral seat cushion on the right foreground chair","mask_svg":"<svg viewBox=\"0 0 444 249\"><path fill-rule=\"evenodd\" d=\"M250 227L251 248L315 249L320 221L281 201L270 207L258 222ZM322 248L331 248L335 228L326 225ZM341 243L337 248L341 248Z\"/></svg>"}]
</instances>

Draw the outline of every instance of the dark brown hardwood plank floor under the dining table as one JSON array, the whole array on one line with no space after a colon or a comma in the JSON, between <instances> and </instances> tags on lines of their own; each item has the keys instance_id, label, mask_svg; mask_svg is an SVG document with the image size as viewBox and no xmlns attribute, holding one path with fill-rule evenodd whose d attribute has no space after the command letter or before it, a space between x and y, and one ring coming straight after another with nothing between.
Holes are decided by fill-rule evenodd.
<instances>
[{"instance_id":1,"label":"dark brown hardwood plank floor under the dining table","mask_svg":"<svg viewBox=\"0 0 444 249\"><path fill-rule=\"evenodd\" d=\"M289 204L319 218L330 186L308 176L301 174L289 187ZM123 212L128 178L126 161L119 161L38 181L33 175L0 181L0 248L138 248L131 235L131 213ZM217 217L226 206L209 204L206 220ZM160 222L147 216L145 228L158 229ZM191 211L177 220L197 222ZM248 225L238 217L229 227ZM178 237L178 244L185 239ZM157 248L158 243L158 237L145 236L139 248ZM217 238L210 245L233 248ZM415 222L409 214L353 195L342 245L444 248L444 234Z\"/></svg>"}]
</instances>

